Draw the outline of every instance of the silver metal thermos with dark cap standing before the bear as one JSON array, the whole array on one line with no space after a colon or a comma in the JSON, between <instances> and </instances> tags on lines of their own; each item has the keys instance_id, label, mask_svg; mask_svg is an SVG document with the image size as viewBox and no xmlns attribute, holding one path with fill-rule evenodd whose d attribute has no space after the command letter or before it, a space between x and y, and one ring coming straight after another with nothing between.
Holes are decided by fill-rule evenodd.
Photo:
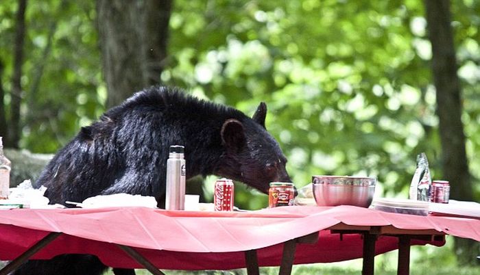
<instances>
[{"instance_id":1,"label":"silver metal thermos with dark cap standing before the bear","mask_svg":"<svg viewBox=\"0 0 480 275\"><path fill-rule=\"evenodd\" d=\"M165 209L184 210L186 174L184 146L170 146L169 158L167 159L167 190L165 194Z\"/></svg>"}]
</instances>

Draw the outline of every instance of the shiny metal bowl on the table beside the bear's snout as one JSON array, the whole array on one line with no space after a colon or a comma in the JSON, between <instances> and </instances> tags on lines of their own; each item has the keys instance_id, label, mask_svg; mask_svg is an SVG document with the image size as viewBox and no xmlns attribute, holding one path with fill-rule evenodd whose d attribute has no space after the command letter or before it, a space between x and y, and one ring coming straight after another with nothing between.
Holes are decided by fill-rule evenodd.
<instances>
[{"instance_id":1,"label":"shiny metal bowl on the table beside the bear's snout","mask_svg":"<svg viewBox=\"0 0 480 275\"><path fill-rule=\"evenodd\" d=\"M355 205L369 207L375 178L359 176L312 176L313 196L318 206Z\"/></svg>"}]
</instances>

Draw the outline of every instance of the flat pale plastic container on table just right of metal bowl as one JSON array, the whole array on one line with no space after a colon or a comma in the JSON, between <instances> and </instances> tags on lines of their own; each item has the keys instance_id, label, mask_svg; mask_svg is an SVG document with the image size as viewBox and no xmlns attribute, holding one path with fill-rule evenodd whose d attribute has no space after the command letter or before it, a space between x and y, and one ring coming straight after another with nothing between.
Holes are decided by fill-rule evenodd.
<instances>
[{"instance_id":1,"label":"flat pale plastic container on table just right of metal bowl","mask_svg":"<svg viewBox=\"0 0 480 275\"><path fill-rule=\"evenodd\" d=\"M376 198L373 208L379 211L410 215L428 215L429 202L401 198Z\"/></svg>"}]
</instances>

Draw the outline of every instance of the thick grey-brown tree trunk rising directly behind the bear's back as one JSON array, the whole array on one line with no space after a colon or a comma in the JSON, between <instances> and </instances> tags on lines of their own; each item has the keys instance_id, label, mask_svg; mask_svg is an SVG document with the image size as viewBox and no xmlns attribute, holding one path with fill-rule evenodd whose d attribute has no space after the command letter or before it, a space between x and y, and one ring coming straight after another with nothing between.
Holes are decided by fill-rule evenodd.
<instances>
[{"instance_id":1,"label":"thick grey-brown tree trunk rising directly behind the bear's back","mask_svg":"<svg viewBox=\"0 0 480 275\"><path fill-rule=\"evenodd\" d=\"M107 107L160 82L170 12L171 0L97 1Z\"/></svg>"}]
</instances>

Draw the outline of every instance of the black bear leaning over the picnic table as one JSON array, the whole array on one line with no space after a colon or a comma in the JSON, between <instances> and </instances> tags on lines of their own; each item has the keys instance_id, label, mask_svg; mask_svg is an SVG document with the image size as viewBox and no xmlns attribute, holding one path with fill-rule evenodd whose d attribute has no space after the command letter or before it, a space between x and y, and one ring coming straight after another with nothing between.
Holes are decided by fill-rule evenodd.
<instances>
[{"instance_id":1,"label":"black bear leaning over the picnic table","mask_svg":"<svg viewBox=\"0 0 480 275\"><path fill-rule=\"evenodd\" d=\"M149 88L83 127L53 157L35 185L47 187L45 196L51 203L128 193L155 196L163 208L168 150L178 144L185 147L187 179L215 174L267 193L270 182L290 182L290 178L287 159L265 129L266 113L265 103L249 118L237 109L195 99L176 88ZM88 263L81 264L77 255L57 257L45 265L34 261L16 274L29 274L32 268L34 274L53 274L50 268L60 266L62 270L56 269L55 274L75 274L75 269L84 269L80 274L99 274L101 263L86 257Z\"/></svg>"}]
</instances>

